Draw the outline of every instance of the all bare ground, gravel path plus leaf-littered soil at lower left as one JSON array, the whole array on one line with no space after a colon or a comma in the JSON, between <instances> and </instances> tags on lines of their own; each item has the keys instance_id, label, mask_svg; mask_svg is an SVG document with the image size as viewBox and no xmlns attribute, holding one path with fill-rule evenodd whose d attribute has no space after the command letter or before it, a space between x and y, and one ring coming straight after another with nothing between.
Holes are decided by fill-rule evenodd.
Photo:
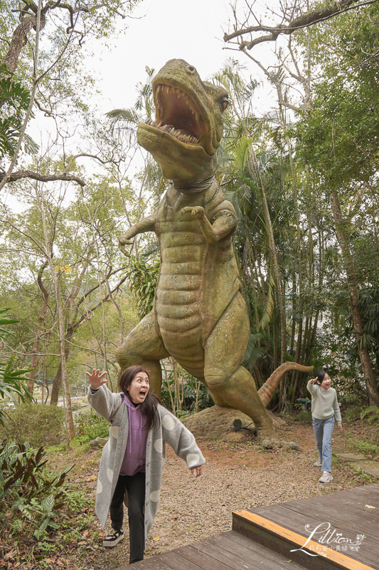
<instances>
[{"instance_id":1,"label":"all bare ground, gravel path plus leaf-littered soil at lower left","mask_svg":"<svg viewBox=\"0 0 379 570\"><path fill-rule=\"evenodd\" d=\"M343 432L335 430L332 444L349 445L351 440L359 438L369 441L375 434L377 437L377 433L376 425L368 427L358 418L345 424ZM206 459L203 475L198 479L191 477L171 448L167 449L159 509L146 542L146 557L230 530L234 509L262 507L378 482L333 457L334 480L331 484L320 484L320 470L313 467L317 453L310 423L294 422L290 418L286 418L286 423L277 423L278 439L298 442L301 450L291 450L282 444L279 444L282 447L274 445L272 450L265 450L247 431L239 433L240 441L216 438L215 432L211 435L212 438L208 434L197 437ZM0 568L114 570L128 564L127 536L115 549L103 549L101 540L105 534L93 517L100 454L99 449L85 447L54 457L58 468L75 462L70 482L73 487L87 492L88 504L79 513L81 521L83 517L87 519L87 525L80 538L60 549L59 555L52 551L44 556L43 563L32 560L27 563L18 556L18 562L16 557L8 561L3 558ZM75 524L78 521L73 521L73 527ZM126 521L125 527L127 529ZM109 527L105 531L107 529ZM10 543L7 551L12 548L14 545ZM35 552L38 553L38 545Z\"/></svg>"}]
</instances>

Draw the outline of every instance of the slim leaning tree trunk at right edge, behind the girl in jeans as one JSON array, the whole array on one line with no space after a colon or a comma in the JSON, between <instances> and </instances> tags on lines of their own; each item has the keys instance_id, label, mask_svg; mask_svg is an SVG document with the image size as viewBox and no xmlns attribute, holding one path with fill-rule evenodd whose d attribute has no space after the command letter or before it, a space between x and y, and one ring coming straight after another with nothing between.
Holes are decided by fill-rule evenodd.
<instances>
[{"instance_id":1,"label":"slim leaning tree trunk at right edge, behind the girl in jeans","mask_svg":"<svg viewBox=\"0 0 379 570\"><path fill-rule=\"evenodd\" d=\"M350 295L351 312L353 314L353 328L354 328L354 333L356 334L359 358L361 359L363 375L365 376L368 398L370 405L379 406L379 393L375 383L375 374L370 359L370 353L368 352L367 348L363 346L362 343L363 319L361 315L361 308L359 306L359 291L358 291L358 280L356 277L356 270L354 268L351 251L348 245L348 239L346 237L346 232L343 228L343 219L342 219L341 207L339 204L337 192L332 192L331 197L332 197L331 207L333 210L334 222L336 224L337 239L341 247L343 264L345 266L347 274L348 292Z\"/></svg>"}]
</instances>

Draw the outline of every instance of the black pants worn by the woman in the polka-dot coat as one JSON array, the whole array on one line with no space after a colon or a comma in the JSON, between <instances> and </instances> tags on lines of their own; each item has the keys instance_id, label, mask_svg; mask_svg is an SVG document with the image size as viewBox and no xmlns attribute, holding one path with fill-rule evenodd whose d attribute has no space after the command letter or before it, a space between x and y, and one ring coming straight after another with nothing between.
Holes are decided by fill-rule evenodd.
<instances>
[{"instance_id":1,"label":"black pants worn by the woman in the polka-dot coat","mask_svg":"<svg viewBox=\"0 0 379 570\"><path fill-rule=\"evenodd\" d=\"M119 475L112 502L110 504L110 519L112 529L121 530L124 522L124 494L128 494L129 519L129 564L144 559L145 529L144 529L144 502L145 502L145 473L135 475Z\"/></svg>"}]
</instances>

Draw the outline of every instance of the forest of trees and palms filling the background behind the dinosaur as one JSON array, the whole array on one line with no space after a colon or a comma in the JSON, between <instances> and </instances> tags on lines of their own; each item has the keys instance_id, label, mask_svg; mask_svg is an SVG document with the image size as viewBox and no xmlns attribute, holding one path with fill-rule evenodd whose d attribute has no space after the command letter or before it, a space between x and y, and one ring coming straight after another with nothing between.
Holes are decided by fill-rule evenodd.
<instances>
[{"instance_id":1,"label":"forest of trees and palms filling the background behind the dinosaur","mask_svg":"<svg viewBox=\"0 0 379 570\"><path fill-rule=\"evenodd\" d=\"M136 238L128 258L117 247L166 185L146 155L131 177L136 125L154 115L154 70L146 61L133 108L106 115L83 58L135 4L1 4L1 371L18 398L17 370L43 402L61 395L68 437L85 370L104 369L116 390L114 350L151 310L159 271L154 235ZM341 397L375 408L378 4L243 5L228 17L235 53L210 81L231 96L217 177L238 217L245 366L258 386L284 361L325 366ZM267 63L257 46L270 42ZM269 108L257 113L262 92ZM176 363L164 368L175 413L211 404ZM306 396L306 380L287 374L272 408Z\"/></svg>"}]
</instances>

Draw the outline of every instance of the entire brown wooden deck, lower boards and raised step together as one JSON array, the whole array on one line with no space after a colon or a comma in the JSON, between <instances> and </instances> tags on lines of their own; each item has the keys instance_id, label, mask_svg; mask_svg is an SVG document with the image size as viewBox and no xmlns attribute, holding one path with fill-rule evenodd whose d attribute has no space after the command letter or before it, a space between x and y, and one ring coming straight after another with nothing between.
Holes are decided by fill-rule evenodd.
<instances>
[{"instance_id":1,"label":"entire brown wooden deck, lower boards and raised step together","mask_svg":"<svg viewBox=\"0 0 379 570\"><path fill-rule=\"evenodd\" d=\"M379 484L233 512L232 531L127 569L379 570Z\"/></svg>"}]
</instances>

